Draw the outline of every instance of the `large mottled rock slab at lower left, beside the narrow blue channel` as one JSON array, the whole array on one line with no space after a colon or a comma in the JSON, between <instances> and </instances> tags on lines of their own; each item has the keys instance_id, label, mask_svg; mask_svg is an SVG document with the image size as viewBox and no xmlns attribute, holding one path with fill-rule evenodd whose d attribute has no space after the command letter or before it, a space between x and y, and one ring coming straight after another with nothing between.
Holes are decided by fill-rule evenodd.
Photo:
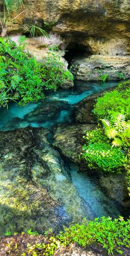
<instances>
[{"instance_id":1,"label":"large mottled rock slab at lower left, beside the narrow blue channel","mask_svg":"<svg viewBox=\"0 0 130 256\"><path fill-rule=\"evenodd\" d=\"M46 129L1 132L1 234L30 228L57 231L85 216L67 168L47 135Z\"/></svg>"}]
</instances>

